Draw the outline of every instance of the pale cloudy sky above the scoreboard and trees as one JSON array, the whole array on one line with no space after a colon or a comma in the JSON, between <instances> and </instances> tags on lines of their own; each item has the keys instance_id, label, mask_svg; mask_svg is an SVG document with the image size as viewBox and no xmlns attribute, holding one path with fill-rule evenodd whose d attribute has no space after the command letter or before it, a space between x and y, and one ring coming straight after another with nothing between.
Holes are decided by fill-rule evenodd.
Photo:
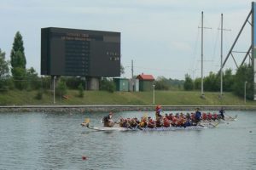
<instances>
[{"instance_id":1,"label":"pale cloudy sky above the scoreboard and trees","mask_svg":"<svg viewBox=\"0 0 256 170\"><path fill-rule=\"evenodd\" d=\"M204 11L204 75L220 65L220 14L224 14L224 58L241 29L248 0L0 0L0 48L9 59L15 32L23 36L27 68L40 74L40 31L44 27L121 32L124 77L152 74L184 79L201 77L201 11ZM247 24L236 51L250 46ZM240 63L244 54L234 54ZM236 70L233 59L225 68Z\"/></svg>"}]
</instances>

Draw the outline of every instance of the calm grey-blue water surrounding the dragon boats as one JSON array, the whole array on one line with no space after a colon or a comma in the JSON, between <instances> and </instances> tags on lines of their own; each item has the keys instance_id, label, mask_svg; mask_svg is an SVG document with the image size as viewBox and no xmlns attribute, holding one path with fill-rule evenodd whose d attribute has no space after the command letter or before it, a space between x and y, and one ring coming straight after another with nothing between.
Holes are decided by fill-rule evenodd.
<instances>
[{"instance_id":1,"label":"calm grey-blue water surrounding the dragon boats","mask_svg":"<svg viewBox=\"0 0 256 170\"><path fill-rule=\"evenodd\" d=\"M101 126L108 113L1 113L0 169L256 169L256 111L227 113L238 121L194 131L113 133L79 125L89 117Z\"/></svg>"}]
</instances>

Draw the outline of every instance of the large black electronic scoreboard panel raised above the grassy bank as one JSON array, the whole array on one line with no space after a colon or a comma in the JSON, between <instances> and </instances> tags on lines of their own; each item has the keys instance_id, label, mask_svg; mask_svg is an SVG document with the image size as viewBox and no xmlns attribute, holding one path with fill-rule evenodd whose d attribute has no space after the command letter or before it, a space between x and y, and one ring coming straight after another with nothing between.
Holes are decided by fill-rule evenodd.
<instances>
[{"instance_id":1,"label":"large black electronic scoreboard panel raised above the grassy bank","mask_svg":"<svg viewBox=\"0 0 256 170\"><path fill-rule=\"evenodd\" d=\"M120 32L42 28L41 75L119 77Z\"/></svg>"}]
</instances>

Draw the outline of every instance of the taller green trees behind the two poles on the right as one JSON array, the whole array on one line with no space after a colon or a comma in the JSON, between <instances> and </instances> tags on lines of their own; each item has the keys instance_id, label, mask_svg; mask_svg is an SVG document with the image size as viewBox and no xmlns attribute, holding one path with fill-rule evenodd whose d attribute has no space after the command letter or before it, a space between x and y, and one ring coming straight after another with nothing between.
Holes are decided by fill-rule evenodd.
<instances>
[{"instance_id":1,"label":"taller green trees behind the two poles on the right","mask_svg":"<svg viewBox=\"0 0 256 170\"><path fill-rule=\"evenodd\" d=\"M247 82L247 83L245 83ZM220 91L220 73L210 72L207 77L203 78L204 90L209 92ZM244 96L244 86L247 88L247 99L253 99L253 65L241 65L235 74L231 69L227 69L223 74L223 90L224 92L233 92L237 96ZM189 74L185 75L183 84L184 90L200 90L201 78L192 78Z\"/></svg>"}]
</instances>

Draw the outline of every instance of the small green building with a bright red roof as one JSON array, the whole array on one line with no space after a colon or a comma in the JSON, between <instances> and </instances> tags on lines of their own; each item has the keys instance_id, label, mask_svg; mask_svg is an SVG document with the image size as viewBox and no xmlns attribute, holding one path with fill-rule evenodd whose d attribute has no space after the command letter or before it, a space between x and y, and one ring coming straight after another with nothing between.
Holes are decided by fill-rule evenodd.
<instances>
[{"instance_id":1,"label":"small green building with a bright red roof","mask_svg":"<svg viewBox=\"0 0 256 170\"><path fill-rule=\"evenodd\" d=\"M154 77L152 75L141 74L137 76L139 80L139 90L140 91L150 91L153 89Z\"/></svg>"}]
</instances>

